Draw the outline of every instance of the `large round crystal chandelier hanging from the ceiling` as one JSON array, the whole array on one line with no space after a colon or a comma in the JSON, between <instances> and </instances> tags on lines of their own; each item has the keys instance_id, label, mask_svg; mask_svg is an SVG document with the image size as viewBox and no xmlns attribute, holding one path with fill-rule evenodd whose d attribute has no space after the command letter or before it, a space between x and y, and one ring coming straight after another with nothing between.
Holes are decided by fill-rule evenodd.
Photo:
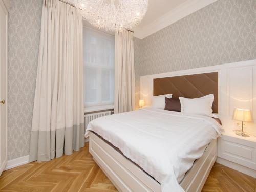
<instances>
[{"instance_id":1,"label":"large round crystal chandelier hanging from the ceiling","mask_svg":"<svg viewBox=\"0 0 256 192\"><path fill-rule=\"evenodd\" d=\"M114 32L138 25L146 14L148 5L148 0L72 1L90 24Z\"/></svg>"}]
</instances>

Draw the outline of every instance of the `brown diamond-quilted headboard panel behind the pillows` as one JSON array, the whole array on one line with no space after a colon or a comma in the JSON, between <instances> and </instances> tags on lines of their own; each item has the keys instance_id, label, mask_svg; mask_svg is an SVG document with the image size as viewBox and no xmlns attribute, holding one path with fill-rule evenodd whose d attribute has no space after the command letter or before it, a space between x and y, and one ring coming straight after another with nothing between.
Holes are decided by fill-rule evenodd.
<instances>
[{"instance_id":1,"label":"brown diamond-quilted headboard panel behind the pillows","mask_svg":"<svg viewBox=\"0 0 256 192\"><path fill-rule=\"evenodd\" d=\"M173 94L173 98L198 98L212 93L212 110L218 113L218 72L154 79L154 96Z\"/></svg>"}]
</instances>

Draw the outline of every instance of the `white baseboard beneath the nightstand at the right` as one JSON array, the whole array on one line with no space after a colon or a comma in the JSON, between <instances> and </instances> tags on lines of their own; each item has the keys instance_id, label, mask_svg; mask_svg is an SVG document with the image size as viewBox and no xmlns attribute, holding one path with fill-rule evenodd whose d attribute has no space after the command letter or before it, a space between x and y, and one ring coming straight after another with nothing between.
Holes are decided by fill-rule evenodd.
<instances>
[{"instance_id":1,"label":"white baseboard beneath the nightstand at the right","mask_svg":"<svg viewBox=\"0 0 256 192\"><path fill-rule=\"evenodd\" d=\"M221 157L217 157L216 162L220 163L222 165L225 165L225 166L227 166L229 168L232 168L234 170L238 170L239 172L241 172L243 174L246 174L246 175L249 175L251 177L256 178L256 170L253 170L251 168L245 167L243 165L239 165L237 163L233 163L233 162L228 161L226 159L222 159Z\"/></svg>"}]
</instances>

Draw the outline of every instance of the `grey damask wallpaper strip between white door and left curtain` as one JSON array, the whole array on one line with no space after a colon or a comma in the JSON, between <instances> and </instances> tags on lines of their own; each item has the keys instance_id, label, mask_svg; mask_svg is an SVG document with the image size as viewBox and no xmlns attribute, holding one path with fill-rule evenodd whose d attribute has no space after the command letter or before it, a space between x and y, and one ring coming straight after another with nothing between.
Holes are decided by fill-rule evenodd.
<instances>
[{"instance_id":1,"label":"grey damask wallpaper strip between white door and left curtain","mask_svg":"<svg viewBox=\"0 0 256 192\"><path fill-rule=\"evenodd\" d=\"M13 0L9 10L8 159L29 154L42 0Z\"/></svg>"}]
</instances>

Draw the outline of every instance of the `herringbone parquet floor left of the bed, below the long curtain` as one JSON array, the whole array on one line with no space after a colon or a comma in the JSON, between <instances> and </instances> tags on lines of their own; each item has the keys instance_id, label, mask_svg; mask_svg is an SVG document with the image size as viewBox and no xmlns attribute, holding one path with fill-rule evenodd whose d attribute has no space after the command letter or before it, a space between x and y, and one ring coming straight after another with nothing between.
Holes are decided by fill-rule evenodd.
<instances>
[{"instance_id":1,"label":"herringbone parquet floor left of the bed, below the long curtain","mask_svg":"<svg viewBox=\"0 0 256 192\"><path fill-rule=\"evenodd\" d=\"M32 162L3 172L0 191L117 191L89 153L79 152L49 162Z\"/></svg>"}]
</instances>

